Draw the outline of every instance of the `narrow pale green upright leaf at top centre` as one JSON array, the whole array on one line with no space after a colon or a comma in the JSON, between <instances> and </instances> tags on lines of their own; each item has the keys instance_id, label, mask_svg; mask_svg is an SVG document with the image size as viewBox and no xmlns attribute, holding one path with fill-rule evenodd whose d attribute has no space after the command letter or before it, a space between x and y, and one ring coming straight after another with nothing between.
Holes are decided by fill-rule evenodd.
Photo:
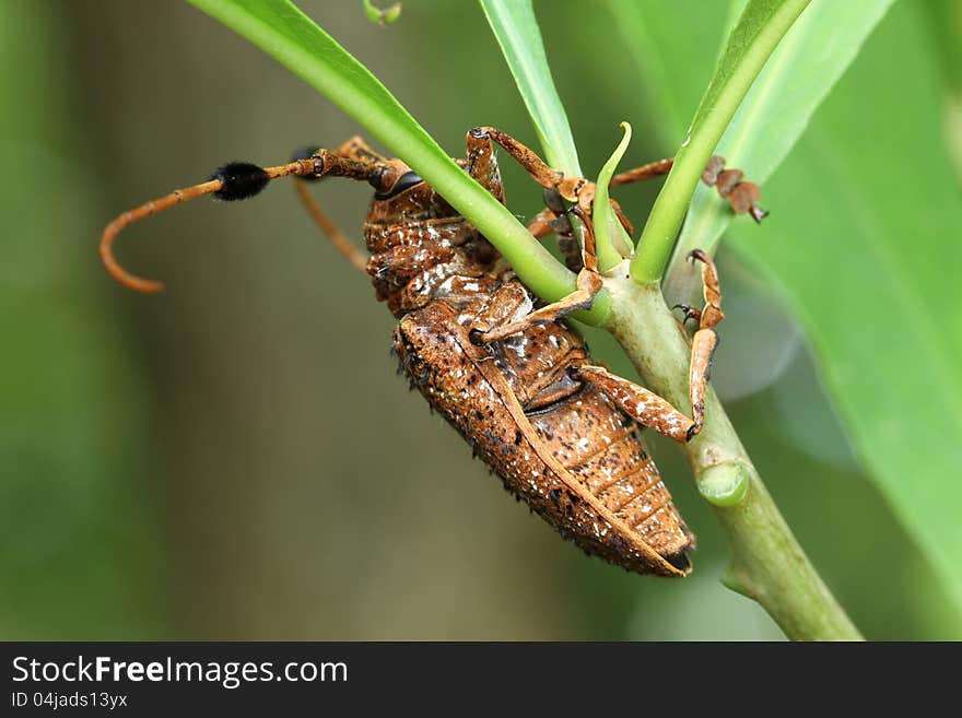
<instances>
[{"instance_id":1,"label":"narrow pale green upright leaf at top centre","mask_svg":"<svg viewBox=\"0 0 962 718\"><path fill-rule=\"evenodd\" d=\"M548 164L580 176L567 116L551 79L530 0L480 0L544 151Z\"/></svg>"}]
</instances>

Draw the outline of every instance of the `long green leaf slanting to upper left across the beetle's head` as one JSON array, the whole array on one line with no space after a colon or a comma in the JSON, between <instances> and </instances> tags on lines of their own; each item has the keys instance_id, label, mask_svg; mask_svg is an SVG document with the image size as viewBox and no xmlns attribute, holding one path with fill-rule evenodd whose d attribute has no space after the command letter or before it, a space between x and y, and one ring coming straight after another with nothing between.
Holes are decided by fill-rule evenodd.
<instances>
[{"instance_id":1,"label":"long green leaf slanting to upper left across the beetle's head","mask_svg":"<svg viewBox=\"0 0 962 718\"><path fill-rule=\"evenodd\" d=\"M461 170L387 89L289 0L190 0L271 55L353 117L408 163L497 247L540 297L574 291L575 276L544 249L490 192ZM590 313L608 308L599 295Z\"/></svg>"}]
</instances>

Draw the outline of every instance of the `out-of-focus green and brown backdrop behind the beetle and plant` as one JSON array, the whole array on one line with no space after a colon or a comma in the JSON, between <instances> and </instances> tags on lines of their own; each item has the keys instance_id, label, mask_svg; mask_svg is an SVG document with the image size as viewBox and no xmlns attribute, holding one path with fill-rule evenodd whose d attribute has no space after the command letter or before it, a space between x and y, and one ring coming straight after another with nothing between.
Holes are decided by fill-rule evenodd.
<instances>
[{"instance_id":1,"label":"out-of-focus green and brown backdrop behind the beetle and plant","mask_svg":"<svg viewBox=\"0 0 962 718\"><path fill-rule=\"evenodd\" d=\"M477 125L536 144L476 3L408 0L388 28L360 2L300 4L453 155ZM596 3L538 8L586 170L622 119L623 166L669 154L637 69L606 66L599 86L598 60L574 49L610 32ZM947 97L958 80L946 73ZM259 50L178 2L0 0L0 637L782 638L718 584L725 537L673 446L653 454L700 539L683 581L589 560L511 501L395 376L389 313L282 183L125 236L122 261L167 282L159 297L108 280L96 243L120 211L227 161L274 164L356 133ZM530 217L540 191L504 174ZM656 191L620 195L638 226ZM369 190L319 192L357 236ZM962 638L801 331L724 249L720 266L715 384L816 566L869 638ZM606 336L590 342L632 375Z\"/></svg>"}]
</instances>

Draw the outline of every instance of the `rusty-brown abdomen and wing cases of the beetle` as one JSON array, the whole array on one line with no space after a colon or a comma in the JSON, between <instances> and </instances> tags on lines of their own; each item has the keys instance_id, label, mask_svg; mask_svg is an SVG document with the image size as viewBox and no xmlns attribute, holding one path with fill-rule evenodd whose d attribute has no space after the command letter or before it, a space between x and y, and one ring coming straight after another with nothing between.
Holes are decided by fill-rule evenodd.
<instances>
[{"instance_id":1,"label":"rusty-brown abdomen and wing cases of the beetle","mask_svg":"<svg viewBox=\"0 0 962 718\"><path fill-rule=\"evenodd\" d=\"M567 376L573 363L587 361L580 340L552 322L482 349L470 343L459 318L464 314L436 301L402 317L395 333L402 367L427 401L508 491L586 552L638 573L688 573L693 537L634 422ZM541 350L532 352L532 344ZM506 391L524 405L540 449L507 407ZM544 397L552 400L539 403ZM539 451L550 452L567 480Z\"/></svg>"}]
</instances>

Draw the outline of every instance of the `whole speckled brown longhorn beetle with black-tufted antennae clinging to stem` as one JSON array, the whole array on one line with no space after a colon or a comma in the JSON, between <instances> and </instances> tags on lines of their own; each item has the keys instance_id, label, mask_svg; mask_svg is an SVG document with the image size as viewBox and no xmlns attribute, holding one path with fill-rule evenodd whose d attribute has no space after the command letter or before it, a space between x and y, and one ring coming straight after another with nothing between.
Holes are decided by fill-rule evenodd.
<instances>
[{"instance_id":1,"label":"whole speckled brown longhorn beetle with black-tufted antennae clinging to stem","mask_svg":"<svg viewBox=\"0 0 962 718\"><path fill-rule=\"evenodd\" d=\"M500 145L544 188L545 209L530 223L538 237L554 232L568 266L578 271L577 290L559 302L539 305L509 268L498 264L494 247L421 177L400 160L386 158L360 138L339 150L310 148L284 165L261 168L232 163L211 178L125 212L104 229L101 256L126 286L157 292L162 285L124 270L113 255L117 234L129 224L203 195L239 200L260 192L270 180L295 176L313 181L327 176L365 180L374 200L364 223L369 258L332 225L297 183L305 207L338 250L371 275L379 301L399 320L394 350L413 386L437 409L505 487L589 554L642 574L684 576L687 552L694 548L671 495L661 482L640 426L672 439L690 440L702 428L704 397L722 295L715 264L702 252L704 309L683 306L694 319L691 416L668 401L595 363L584 341L561 319L591 306L601 287L595 254L591 210L595 186L565 177L531 150L494 128L467 134L467 157L457 161L497 200L504 188L495 157ZM664 175L671 160L617 175L623 185ZM702 179L717 187L738 213L760 222L760 190L724 169L713 157ZM618 216L631 226L615 203ZM583 248L573 239L568 213L585 228ZM536 308L537 307L537 308Z\"/></svg>"}]
</instances>

